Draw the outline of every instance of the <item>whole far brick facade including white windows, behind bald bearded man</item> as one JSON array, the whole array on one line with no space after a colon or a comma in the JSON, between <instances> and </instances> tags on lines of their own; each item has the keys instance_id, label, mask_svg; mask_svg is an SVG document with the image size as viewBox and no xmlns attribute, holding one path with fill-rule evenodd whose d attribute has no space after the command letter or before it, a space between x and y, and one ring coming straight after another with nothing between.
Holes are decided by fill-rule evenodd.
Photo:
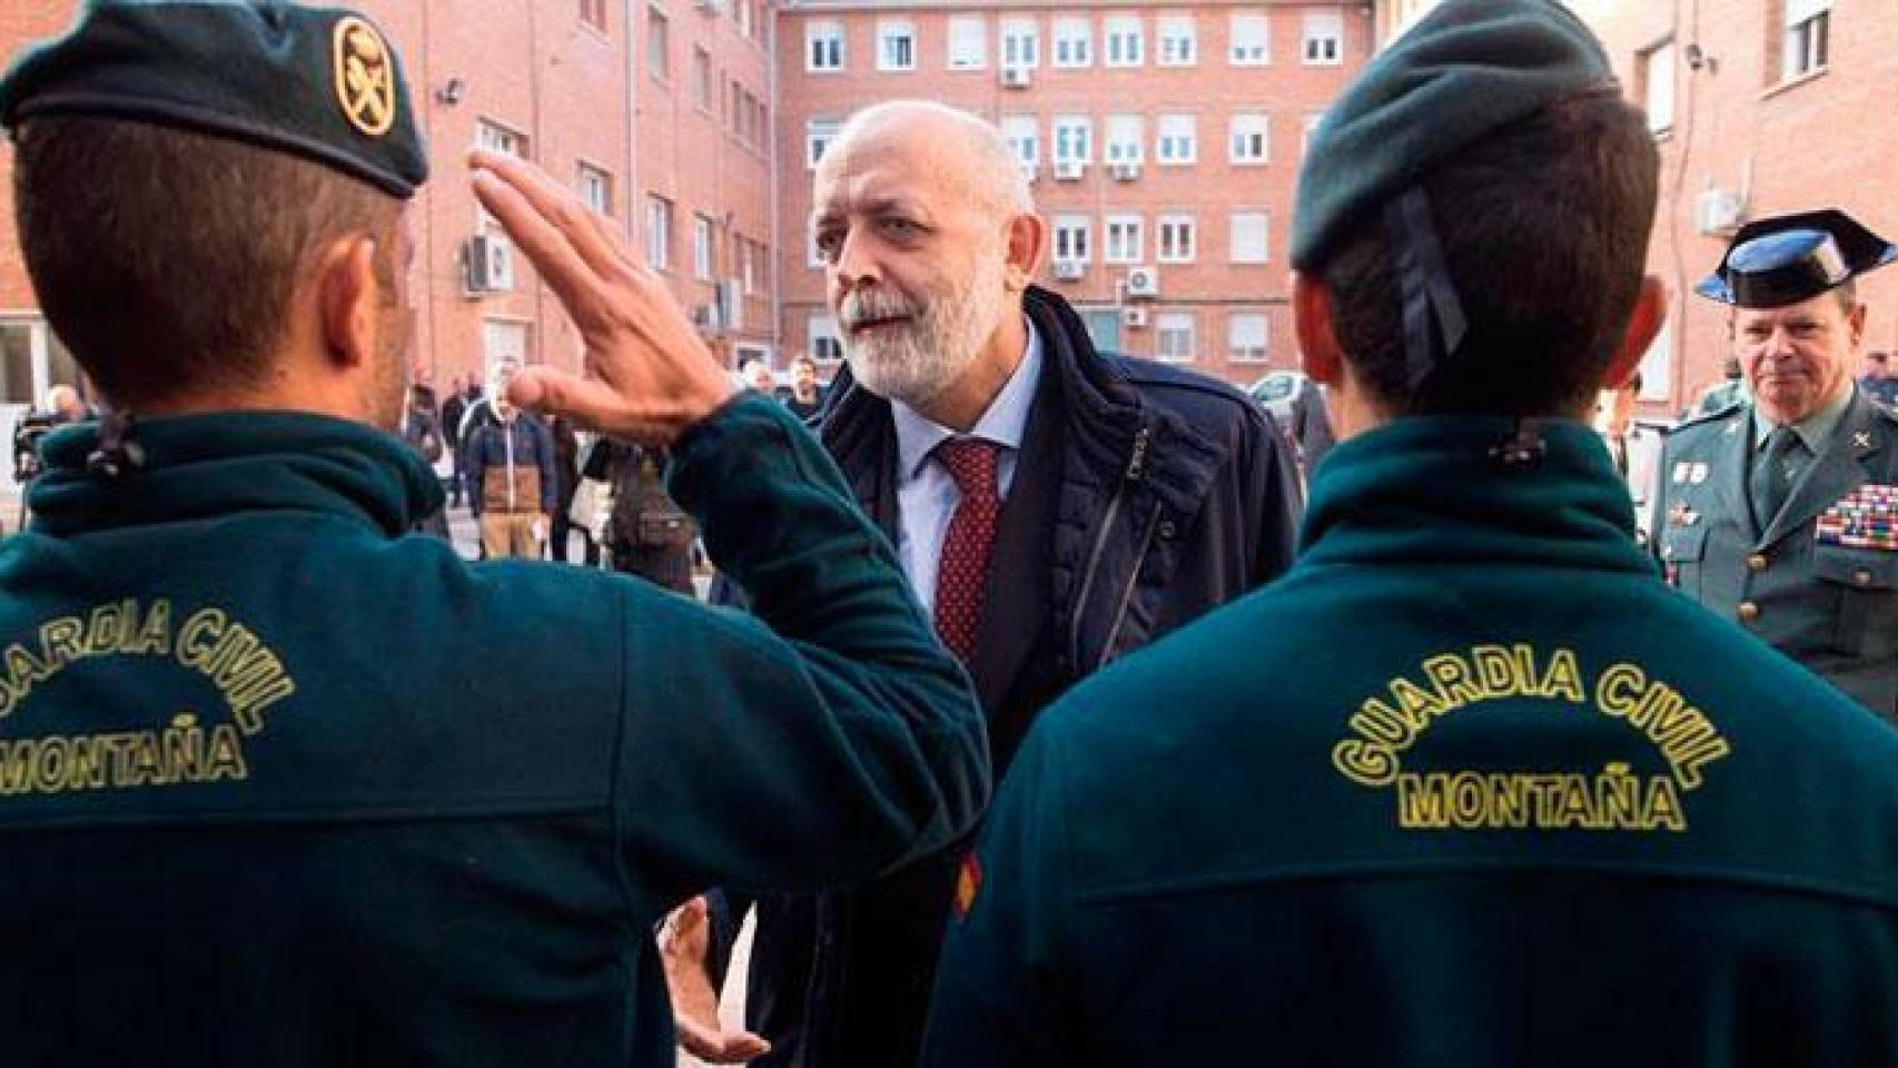
<instances>
[{"instance_id":1,"label":"whole far brick facade including white windows, behind bald bearded man","mask_svg":"<svg viewBox=\"0 0 1898 1068\"><path fill-rule=\"evenodd\" d=\"M791 2L778 17L782 347L835 360L805 211L856 108L1002 127L1050 224L1040 283L1097 343L1251 381L1296 366L1287 241L1306 133L1372 47L1368 4ZM795 207L795 214L793 214Z\"/></svg>"}]
</instances>

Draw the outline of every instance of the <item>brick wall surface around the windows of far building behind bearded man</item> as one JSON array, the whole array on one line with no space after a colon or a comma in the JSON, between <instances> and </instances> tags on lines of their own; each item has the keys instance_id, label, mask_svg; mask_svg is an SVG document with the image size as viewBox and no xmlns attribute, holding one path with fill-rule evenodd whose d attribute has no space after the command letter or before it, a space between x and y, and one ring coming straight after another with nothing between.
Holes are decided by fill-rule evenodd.
<instances>
[{"instance_id":1,"label":"brick wall surface around the windows of far building behind bearded man","mask_svg":"<svg viewBox=\"0 0 1898 1068\"><path fill-rule=\"evenodd\" d=\"M983 21L981 66L949 68L949 21L977 15ZM1232 13L1268 17L1268 61L1262 66L1228 63ZM976 112L993 121L1033 116L1038 140L1034 197L1044 216L1084 216L1089 220L1089 254L1082 277L1055 279L1044 264L1038 281L1061 292L1084 315L1099 315L1116 324L1097 334L1126 353L1152 357L1160 343L1160 324L1169 315L1190 315L1194 338L1190 366L1247 383L1272 368L1296 366L1287 290L1287 243L1291 235L1293 186L1304 148L1306 125L1336 97L1372 49L1370 6L1336 4L797 4L780 13L778 76L784 114L778 125L780 230L784 271L784 317L780 332L788 353L814 353L812 319L826 319L824 271L809 250L810 165L807 135L810 121L841 121L865 104L924 97ZM1334 64L1302 63L1306 13L1336 17L1342 49ZM1139 66L1105 64L1105 25L1110 15L1141 19L1144 55ZM1160 19L1190 17L1196 27L1198 61L1190 66L1163 66L1160 59ZM1059 17L1086 17L1091 25L1091 64L1055 64L1053 23ZM879 70L879 21L913 23L915 70ZM1002 23L1029 19L1036 28L1038 63L1029 70L1027 87L1002 83ZM807 27L839 23L845 32L841 70L810 70ZM1228 123L1234 114L1268 116L1270 148L1264 163L1236 165L1228 157ZM1107 120L1114 114L1141 116L1143 161L1139 175L1116 180L1103 163ZM1057 116L1091 120L1091 161L1076 180L1057 180L1051 167ZM1169 167L1158 161L1160 116L1194 116L1196 161ZM1268 216L1268 254L1264 264L1234 264L1230 252L1230 214L1234 211ZM1160 296L1139 298L1126 292L1135 264L1107 264L1105 220L1108 214L1135 214L1144 224L1137 266L1158 273ZM1190 214L1196 224L1192 262L1158 260L1158 222L1163 214ZM1144 315L1144 326L1129 326ZM1228 319L1264 315L1268 338L1262 359L1234 360L1228 353ZM833 351L833 349L829 349Z\"/></svg>"}]
</instances>

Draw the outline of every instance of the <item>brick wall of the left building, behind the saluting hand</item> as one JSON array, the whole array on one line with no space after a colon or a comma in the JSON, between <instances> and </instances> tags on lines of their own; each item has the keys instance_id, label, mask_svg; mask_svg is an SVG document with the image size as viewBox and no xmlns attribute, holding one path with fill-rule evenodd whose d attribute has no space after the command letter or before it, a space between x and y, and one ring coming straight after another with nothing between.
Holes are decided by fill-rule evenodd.
<instances>
[{"instance_id":1,"label":"brick wall of the left building, behind the saluting hand","mask_svg":"<svg viewBox=\"0 0 1898 1068\"><path fill-rule=\"evenodd\" d=\"M57 32L76 8L76 0L9 0L0 11L0 57ZM412 351L419 377L446 385L486 374L495 355L492 338L501 336L520 338L530 362L581 366L571 322L524 258L514 256L512 288L467 290L467 243L476 233L495 233L467 182L465 157L482 140L484 121L511 131L526 157L560 182L577 188L581 165L605 175L613 228L632 249L645 247L647 190L674 197L674 249L683 249L685 258L666 277L687 307L714 304L714 285L700 283L691 269L693 216L717 222L716 279L738 273L735 235L769 247L765 138L754 133L755 144L746 146L717 99L708 110L693 106L687 80L693 49L702 47L716 87L740 82L769 99L767 0L708 0L702 8L693 0L361 0L361 8L402 53L414 106L429 135L431 180L410 212ZM740 8L750 32L740 28ZM672 23L670 78L647 64L649 11L662 11ZM9 176L9 161L11 150L0 148L0 178ZM8 313L32 315L36 307L19 264L9 182L6 190L0 192L0 220L6 220L0 321ZM759 258L765 266L754 271L754 292L742 298L742 326L706 324L719 351L771 343L769 252Z\"/></svg>"}]
</instances>

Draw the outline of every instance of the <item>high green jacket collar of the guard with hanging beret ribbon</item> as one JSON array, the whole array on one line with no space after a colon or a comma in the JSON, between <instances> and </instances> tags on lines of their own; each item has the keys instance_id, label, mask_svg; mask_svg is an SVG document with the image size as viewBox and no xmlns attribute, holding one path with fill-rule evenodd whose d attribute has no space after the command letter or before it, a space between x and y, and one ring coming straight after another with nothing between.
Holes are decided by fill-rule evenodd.
<instances>
[{"instance_id":1,"label":"high green jacket collar of the guard with hanging beret ribbon","mask_svg":"<svg viewBox=\"0 0 1898 1068\"><path fill-rule=\"evenodd\" d=\"M1653 571L1600 434L1534 421L1545 450L1507 467L1515 421L1412 417L1340 442L1312 480L1300 563L1535 563Z\"/></svg>"}]
</instances>

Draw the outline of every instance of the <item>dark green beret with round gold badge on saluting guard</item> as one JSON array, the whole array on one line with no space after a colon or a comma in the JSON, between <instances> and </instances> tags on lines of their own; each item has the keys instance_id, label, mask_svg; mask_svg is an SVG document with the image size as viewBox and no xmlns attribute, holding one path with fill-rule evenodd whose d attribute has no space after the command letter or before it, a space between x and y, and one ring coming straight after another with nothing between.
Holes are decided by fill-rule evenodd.
<instances>
[{"instance_id":1,"label":"dark green beret with round gold badge on saluting guard","mask_svg":"<svg viewBox=\"0 0 1898 1068\"><path fill-rule=\"evenodd\" d=\"M429 157L366 17L287 0L87 0L0 80L0 127L102 116L302 156L408 199Z\"/></svg>"}]
</instances>

